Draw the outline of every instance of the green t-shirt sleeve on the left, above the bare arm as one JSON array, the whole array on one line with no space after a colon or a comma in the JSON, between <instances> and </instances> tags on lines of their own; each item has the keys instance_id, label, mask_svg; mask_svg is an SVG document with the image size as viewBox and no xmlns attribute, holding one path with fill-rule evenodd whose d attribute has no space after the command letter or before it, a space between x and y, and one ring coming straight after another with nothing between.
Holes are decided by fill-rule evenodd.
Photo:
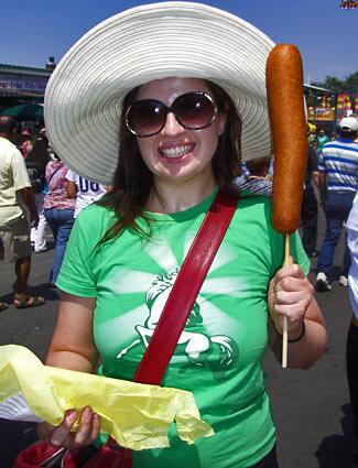
<instances>
[{"instance_id":1,"label":"green t-shirt sleeve on the left, above the bare arm","mask_svg":"<svg viewBox=\"0 0 358 468\"><path fill-rule=\"evenodd\" d=\"M96 242L88 239L87 217L78 217L75 221L66 247L64 261L56 281L56 286L66 293L96 297L97 287L93 272ZM86 236L87 232L87 236Z\"/></svg>"}]
</instances>

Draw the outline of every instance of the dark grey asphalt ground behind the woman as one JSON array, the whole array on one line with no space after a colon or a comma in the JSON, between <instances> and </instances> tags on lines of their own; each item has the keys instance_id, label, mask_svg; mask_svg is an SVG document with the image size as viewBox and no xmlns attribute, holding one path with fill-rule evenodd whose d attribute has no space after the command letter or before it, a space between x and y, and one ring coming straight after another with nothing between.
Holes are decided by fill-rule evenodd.
<instances>
[{"instance_id":1,"label":"dark grey asphalt ground behind the woman","mask_svg":"<svg viewBox=\"0 0 358 468\"><path fill-rule=\"evenodd\" d=\"M324 233L322 214L318 247ZM57 290L46 284L53 258L50 250L33 254L30 293L46 298L42 307L0 313L0 345L17 344L43 359L50 344L58 305ZM343 241L335 255L334 273L339 276ZM312 269L315 266L312 259ZM313 273L310 273L313 280ZM0 301L12 303L13 265L0 262ZM264 359L267 385L278 426L280 468L348 468L352 449L352 415L345 371L346 335L350 322L347 289L337 281L316 300L326 320L328 346L310 370L281 369L270 352ZM33 377L36 378L35 376ZM0 420L0 468L11 468L14 456L36 440L35 425ZM189 467L188 467L189 468ZM213 467L215 468L215 467Z\"/></svg>"}]
</instances>

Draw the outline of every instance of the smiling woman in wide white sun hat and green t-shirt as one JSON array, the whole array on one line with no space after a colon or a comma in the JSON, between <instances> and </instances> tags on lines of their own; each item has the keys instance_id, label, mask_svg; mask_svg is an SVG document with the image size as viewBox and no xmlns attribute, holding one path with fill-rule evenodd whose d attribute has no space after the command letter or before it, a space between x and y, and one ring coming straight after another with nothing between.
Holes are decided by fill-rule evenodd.
<instances>
[{"instance_id":1,"label":"smiling woman in wide white sun hat and green t-shirt","mask_svg":"<svg viewBox=\"0 0 358 468\"><path fill-rule=\"evenodd\" d=\"M164 2L99 24L57 66L45 100L51 141L77 173L112 182L113 191L76 220L47 364L133 378L218 188L239 174L241 152L270 154L264 64L272 46L226 12ZM299 264L282 268L270 209L267 197L241 194L162 382L193 391L215 435L188 446L171 434L170 448L134 453L134 467L278 466L261 368L268 328L279 355L288 317L292 368L313 364L326 333L299 236L291 246ZM85 407L58 427L41 424L40 435L85 446L99 424Z\"/></svg>"}]
</instances>

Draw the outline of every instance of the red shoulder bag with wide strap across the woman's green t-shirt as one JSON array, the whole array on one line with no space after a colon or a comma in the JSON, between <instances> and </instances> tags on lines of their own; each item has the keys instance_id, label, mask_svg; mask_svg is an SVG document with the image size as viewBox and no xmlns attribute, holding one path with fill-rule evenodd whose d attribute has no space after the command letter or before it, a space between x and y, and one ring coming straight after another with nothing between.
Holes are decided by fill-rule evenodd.
<instances>
[{"instance_id":1,"label":"red shoulder bag with wide strap across the woman's green t-shirt","mask_svg":"<svg viewBox=\"0 0 358 468\"><path fill-rule=\"evenodd\" d=\"M161 383L192 306L231 221L237 203L237 196L224 191L215 197L166 300L160 322L135 372L134 382L153 385ZM166 330L171 330L171 334L167 335ZM52 460L55 457L61 459L64 453L61 468L132 466L131 450L119 447L110 437L107 444L98 449L90 446L75 450L58 450L41 442L22 450L15 458L13 468L54 466Z\"/></svg>"}]
</instances>

